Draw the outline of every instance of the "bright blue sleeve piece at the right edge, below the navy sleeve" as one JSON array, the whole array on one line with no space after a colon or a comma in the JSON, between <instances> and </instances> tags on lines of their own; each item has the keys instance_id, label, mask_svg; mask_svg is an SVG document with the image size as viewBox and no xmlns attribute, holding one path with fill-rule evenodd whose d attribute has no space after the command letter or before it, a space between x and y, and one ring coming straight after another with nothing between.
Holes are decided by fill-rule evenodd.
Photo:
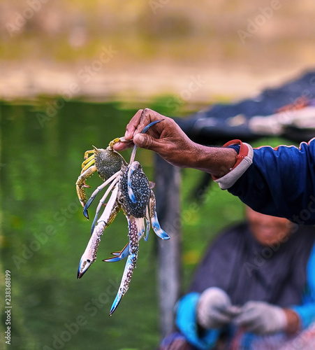
<instances>
[{"instance_id":1,"label":"bright blue sleeve piece at the right edge, below the navy sleeve","mask_svg":"<svg viewBox=\"0 0 315 350\"><path fill-rule=\"evenodd\" d=\"M307 288L303 295L302 305L291 307L301 320L302 329L315 321L315 245L307 263Z\"/></svg>"}]
</instances>

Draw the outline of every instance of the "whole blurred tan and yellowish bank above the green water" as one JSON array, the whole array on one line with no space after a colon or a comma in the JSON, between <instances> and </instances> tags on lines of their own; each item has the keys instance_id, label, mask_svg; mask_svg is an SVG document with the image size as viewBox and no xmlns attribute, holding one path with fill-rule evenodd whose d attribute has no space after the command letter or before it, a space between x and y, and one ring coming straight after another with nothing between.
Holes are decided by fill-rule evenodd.
<instances>
[{"instance_id":1,"label":"whole blurred tan and yellowish bank above the green water","mask_svg":"<svg viewBox=\"0 0 315 350\"><path fill-rule=\"evenodd\" d=\"M77 83L71 97L138 101L200 76L191 100L247 96L314 64L314 13L312 0L1 0L0 95Z\"/></svg>"}]
</instances>

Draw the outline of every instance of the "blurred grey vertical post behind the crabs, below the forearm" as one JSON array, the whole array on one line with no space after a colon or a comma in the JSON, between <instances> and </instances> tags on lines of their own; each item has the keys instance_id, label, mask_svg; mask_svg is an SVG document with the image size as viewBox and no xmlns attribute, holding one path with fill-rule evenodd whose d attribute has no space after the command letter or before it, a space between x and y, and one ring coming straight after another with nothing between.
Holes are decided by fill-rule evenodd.
<instances>
[{"instance_id":1,"label":"blurred grey vertical post behind the crabs, below the forearm","mask_svg":"<svg viewBox=\"0 0 315 350\"><path fill-rule=\"evenodd\" d=\"M174 306L180 297L180 169L155 156L156 212L170 239L158 243L161 337L174 329Z\"/></svg>"}]
</instances>

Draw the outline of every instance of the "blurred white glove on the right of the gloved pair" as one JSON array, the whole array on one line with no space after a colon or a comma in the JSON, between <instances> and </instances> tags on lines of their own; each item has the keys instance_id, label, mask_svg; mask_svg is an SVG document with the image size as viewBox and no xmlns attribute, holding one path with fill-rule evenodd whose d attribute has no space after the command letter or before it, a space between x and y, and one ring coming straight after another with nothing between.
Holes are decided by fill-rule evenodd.
<instances>
[{"instance_id":1,"label":"blurred white glove on the right of the gloved pair","mask_svg":"<svg viewBox=\"0 0 315 350\"><path fill-rule=\"evenodd\" d=\"M233 323L258 335L281 332L286 328L286 314L281 307L267 302L247 302Z\"/></svg>"}]
</instances>

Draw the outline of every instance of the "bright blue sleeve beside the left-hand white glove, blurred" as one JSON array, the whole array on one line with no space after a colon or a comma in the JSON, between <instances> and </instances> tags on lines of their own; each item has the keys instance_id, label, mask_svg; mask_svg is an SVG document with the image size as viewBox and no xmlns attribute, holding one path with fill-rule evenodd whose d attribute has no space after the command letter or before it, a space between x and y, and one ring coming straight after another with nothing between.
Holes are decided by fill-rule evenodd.
<instances>
[{"instance_id":1,"label":"bright blue sleeve beside the left-hand white glove, blurred","mask_svg":"<svg viewBox=\"0 0 315 350\"><path fill-rule=\"evenodd\" d=\"M200 350L209 350L217 343L219 330L204 330L203 335L198 334L196 308L199 296L199 293L189 293L178 302L176 325L190 344Z\"/></svg>"}]
</instances>

